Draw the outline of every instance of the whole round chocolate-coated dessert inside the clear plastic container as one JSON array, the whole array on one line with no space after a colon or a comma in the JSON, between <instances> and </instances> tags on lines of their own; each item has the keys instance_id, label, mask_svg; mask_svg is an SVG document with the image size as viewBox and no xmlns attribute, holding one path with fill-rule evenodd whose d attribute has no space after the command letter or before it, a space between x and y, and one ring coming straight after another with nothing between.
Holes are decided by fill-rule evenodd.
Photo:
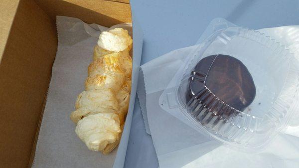
<instances>
[{"instance_id":1,"label":"whole round chocolate-coated dessert inside the clear plastic container","mask_svg":"<svg viewBox=\"0 0 299 168\"><path fill-rule=\"evenodd\" d=\"M217 120L237 115L253 102L256 95L254 81L246 66L240 60L222 54L201 59L192 71L188 87L187 108L205 124L217 124Z\"/></svg>"}]
</instances>

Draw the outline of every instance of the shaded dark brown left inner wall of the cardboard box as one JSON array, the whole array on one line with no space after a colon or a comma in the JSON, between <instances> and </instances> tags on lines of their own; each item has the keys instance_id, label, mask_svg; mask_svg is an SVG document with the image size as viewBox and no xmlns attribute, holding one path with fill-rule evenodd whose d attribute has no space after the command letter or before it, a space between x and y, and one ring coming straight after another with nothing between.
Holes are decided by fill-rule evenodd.
<instances>
[{"instance_id":1,"label":"shaded dark brown left inner wall of the cardboard box","mask_svg":"<svg viewBox=\"0 0 299 168\"><path fill-rule=\"evenodd\" d=\"M19 0L0 62L2 168L28 167L56 47L53 21L33 0Z\"/></svg>"}]
</instances>

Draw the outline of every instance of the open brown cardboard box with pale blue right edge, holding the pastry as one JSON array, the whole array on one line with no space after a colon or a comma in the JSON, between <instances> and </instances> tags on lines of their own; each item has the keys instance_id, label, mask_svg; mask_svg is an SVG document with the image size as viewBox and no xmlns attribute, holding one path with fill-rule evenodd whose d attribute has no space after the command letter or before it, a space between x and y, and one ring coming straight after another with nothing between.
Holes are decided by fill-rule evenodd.
<instances>
[{"instance_id":1,"label":"open brown cardboard box with pale blue right edge, holding the pastry","mask_svg":"<svg viewBox=\"0 0 299 168\"><path fill-rule=\"evenodd\" d=\"M0 9L0 164L3 168L27 168L34 158L56 55L56 15L110 27L132 22L131 8L129 0L2 0ZM132 121L142 51L140 29L133 28L133 33L127 121ZM130 128L131 123L126 122L115 166L124 164Z\"/></svg>"}]
</instances>

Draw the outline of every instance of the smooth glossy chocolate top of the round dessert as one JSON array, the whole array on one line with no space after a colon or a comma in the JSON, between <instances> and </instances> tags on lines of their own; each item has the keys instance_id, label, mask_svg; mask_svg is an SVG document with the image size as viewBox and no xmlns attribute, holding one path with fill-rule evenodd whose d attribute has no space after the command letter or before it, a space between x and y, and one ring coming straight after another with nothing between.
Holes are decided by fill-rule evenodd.
<instances>
[{"instance_id":1,"label":"smooth glossy chocolate top of the round dessert","mask_svg":"<svg viewBox=\"0 0 299 168\"><path fill-rule=\"evenodd\" d=\"M229 55L211 55L201 59L193 74L204 81L190 80L187 101L204 87L232 108L243 111L254 100L256 87L246 66Z\"/></svg>"}]
</instances>

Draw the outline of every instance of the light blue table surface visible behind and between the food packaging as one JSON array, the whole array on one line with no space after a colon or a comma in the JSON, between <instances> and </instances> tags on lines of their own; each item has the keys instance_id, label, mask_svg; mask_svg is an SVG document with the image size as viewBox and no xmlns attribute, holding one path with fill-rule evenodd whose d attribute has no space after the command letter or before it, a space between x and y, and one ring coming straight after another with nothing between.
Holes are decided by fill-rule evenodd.
<instances>
[{"instance_id":1,"label":"light blue table surface visible behind and between the food packaging","mask_svg":"<svg viewBox=\"0 0 299 168\"><path fill-rule=\"evenodd\" d=\"M130 0L144 32L142 63L195 44L216 17L252 29L299 25L299 0ZM151 137L135 103L125 168L157 168Z\"/></svg>"}]
</instances>

